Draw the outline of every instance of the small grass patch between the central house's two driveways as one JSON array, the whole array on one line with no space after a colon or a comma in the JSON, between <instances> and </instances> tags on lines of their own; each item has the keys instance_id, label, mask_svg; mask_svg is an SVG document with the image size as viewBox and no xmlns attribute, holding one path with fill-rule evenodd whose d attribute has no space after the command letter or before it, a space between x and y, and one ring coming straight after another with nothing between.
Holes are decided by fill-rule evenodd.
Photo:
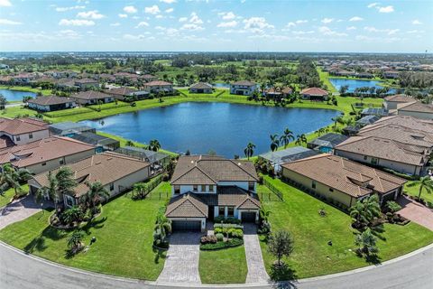
<instances>
[{"instance_id":1,"label":"small grass patch between the central house's two driveways","mask_svg":"<svg viewBox=\"0 0 433 289\"><path fill-rule=\"evenodd\" d=\"M245 283L248 268L244 246L200 251L198 271L204 284Z\"/></svg>"}]
</instances>

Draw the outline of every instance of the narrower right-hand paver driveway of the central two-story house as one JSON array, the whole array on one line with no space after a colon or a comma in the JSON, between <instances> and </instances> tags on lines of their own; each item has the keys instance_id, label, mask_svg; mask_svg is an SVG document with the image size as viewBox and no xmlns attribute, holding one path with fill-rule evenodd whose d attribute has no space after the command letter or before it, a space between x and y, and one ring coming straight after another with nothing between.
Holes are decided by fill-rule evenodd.
<instances>
[{"instance_id":1,"label":"narrower right-hand paver driveway of the central two-story house","mask_svg":"<svg viewBox=\"0 0 433 289\"><path fill-rule=\"evenodd\" d=\"M253 224L244 224L244 247L248 266L245 283L266 284L270 278L264 268L257 228Z\"/></svg>"}]
</instances>

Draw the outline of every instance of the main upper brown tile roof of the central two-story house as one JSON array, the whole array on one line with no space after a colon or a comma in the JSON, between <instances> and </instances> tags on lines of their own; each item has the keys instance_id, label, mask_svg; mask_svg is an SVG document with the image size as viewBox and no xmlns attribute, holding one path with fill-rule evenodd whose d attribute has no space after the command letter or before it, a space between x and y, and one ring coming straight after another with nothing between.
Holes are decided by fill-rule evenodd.
<instances>
[{"instance_id":1,"label":"main upper brown tile roof of the central two-story house","mask_svg":"<svg viewBox=\"0 0 433 289\"><path fill-rule=\"evenodd\" d=\"M253 163L219 156L181 156L171 177L172 184L217 184L257 181Z\"/></svg>"}]
</instances>

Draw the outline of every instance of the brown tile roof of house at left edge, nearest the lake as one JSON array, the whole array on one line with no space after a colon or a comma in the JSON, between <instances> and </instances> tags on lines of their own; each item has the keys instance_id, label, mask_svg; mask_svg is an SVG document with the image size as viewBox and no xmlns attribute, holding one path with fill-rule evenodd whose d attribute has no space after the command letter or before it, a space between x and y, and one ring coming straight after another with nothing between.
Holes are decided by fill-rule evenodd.
<instances>
[{"instance_id":1,"label":"brown tile roof of house at left edge, nearest the lake","mask_svg":"<svg viewBox=\"0 0 433 289\"><path fill-rule=\"evenodd\" d=\"M48 124L32 118L0 117L0 132L9 135L22 135L48 129Z\"/></svg>"}]
</instances>

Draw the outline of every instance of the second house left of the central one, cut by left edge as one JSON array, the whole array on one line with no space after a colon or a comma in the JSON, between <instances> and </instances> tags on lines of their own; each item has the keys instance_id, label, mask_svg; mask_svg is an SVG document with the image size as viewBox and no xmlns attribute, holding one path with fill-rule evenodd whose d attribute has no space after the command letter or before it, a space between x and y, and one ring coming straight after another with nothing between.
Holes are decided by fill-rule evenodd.
<instances>
[{"instance_id":1,"label":"second house left of the central one, cut by left edge","mask_svg":"<svg viewBox=\"0 0 433 289\"><path fill-rule=\"evenodd\" d=\"M1 150L0 164L11 163L15 168L41 173L77 162L92 154L95 154L93 145L69 137L51 136Z\"/></svg>"}]
</instances>

